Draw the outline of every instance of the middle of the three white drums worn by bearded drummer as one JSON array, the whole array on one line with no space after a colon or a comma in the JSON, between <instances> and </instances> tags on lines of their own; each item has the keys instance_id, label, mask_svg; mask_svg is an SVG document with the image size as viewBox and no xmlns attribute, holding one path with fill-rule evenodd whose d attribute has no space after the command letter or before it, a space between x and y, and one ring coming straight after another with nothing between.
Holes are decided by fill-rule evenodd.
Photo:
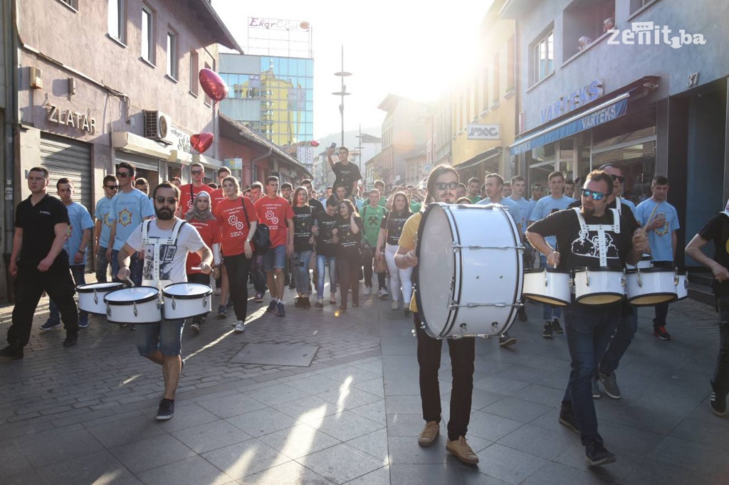
<instances>
[{"instance_id":1,"label":"middle of the three white drums worn by bearded drummer","mask_svg":"<svg viewBox=\"0 0 729 485\"><path fill-rule=\"evenodd\" d=\"M104 296L106 320L111 323L157 323L162 321L160 291L152 286L136 286L112 291Z\"/></svg>"}]
</instances>

